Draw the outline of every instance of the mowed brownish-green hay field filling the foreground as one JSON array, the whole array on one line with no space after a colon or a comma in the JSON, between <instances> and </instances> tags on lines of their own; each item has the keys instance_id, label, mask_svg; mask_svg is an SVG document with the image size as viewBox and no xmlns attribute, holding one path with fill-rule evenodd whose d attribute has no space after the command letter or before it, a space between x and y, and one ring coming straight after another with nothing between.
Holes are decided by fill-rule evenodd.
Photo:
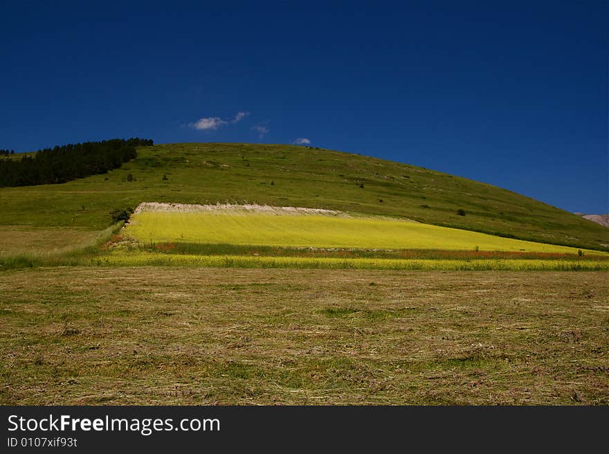
<instances>
[{"instance_id":1,"label":"mowed brownish-green hay field filling the foreground","mask_svg":"<svg viewBox=\"0 0 609 454\"><path fill-rule=\"evenodd\" d=\"M2 404L608 404L606 273L0 274Z\"/></svg>"}]
</instances>

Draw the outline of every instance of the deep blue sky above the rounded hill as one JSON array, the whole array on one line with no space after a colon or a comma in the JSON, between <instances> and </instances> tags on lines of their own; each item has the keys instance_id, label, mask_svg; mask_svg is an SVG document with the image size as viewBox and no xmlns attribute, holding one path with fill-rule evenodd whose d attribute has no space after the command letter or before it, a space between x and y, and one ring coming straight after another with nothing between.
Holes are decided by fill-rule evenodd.
<instances>
[{"instance_id":1,"label":"deep blue sky above the rounded hill","mask_svg":"<svg viewBox=\"0 0 609 454\"><path fill-rule=\"evenodd\" d=\"M606 1L244 4L0 0L0 148L307 138L609 211Z\"/></svg>"}]
</instances>

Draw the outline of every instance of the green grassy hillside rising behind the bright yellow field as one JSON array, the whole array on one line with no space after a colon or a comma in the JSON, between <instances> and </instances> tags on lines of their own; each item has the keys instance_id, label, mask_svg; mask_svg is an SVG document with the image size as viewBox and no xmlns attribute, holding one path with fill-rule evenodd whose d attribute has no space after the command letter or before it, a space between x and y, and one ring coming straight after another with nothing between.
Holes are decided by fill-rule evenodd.
<instances>
[{"instance_id":1,"label":"green grassy hillside rising behind the bright yellow field","mask_svg":"<svg viewBox=\"0 0 609 454\"><path fill-rule=\"evenodd\" d=\"M136 181L127 182L129 173ZM514 192L421 167L291 145L145 147L107 175L0 189L0 225L102 230L111 223L110 210L140 201L332 208L554 244L609 244L606 228ZM457 215L459 208L466 216Z\"/></svg>"}]
</instances>

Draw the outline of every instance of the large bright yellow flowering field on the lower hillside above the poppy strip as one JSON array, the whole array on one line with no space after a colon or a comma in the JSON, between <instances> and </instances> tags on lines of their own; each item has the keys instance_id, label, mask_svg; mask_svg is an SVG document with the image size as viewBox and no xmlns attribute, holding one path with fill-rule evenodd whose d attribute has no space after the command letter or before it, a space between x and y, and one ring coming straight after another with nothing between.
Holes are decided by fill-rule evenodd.
<instances>
[{"instance_id":1,"label":"large bright yellow flowering field on the lower hillside above the poppy strip","mask_svg":"<svg viewBox=\"0 0 609 454\"><path fill-rule=\"evenodd\" d=\"M143 243L577 253L555 246L390 218L248 212L138 212L124 230Z\"/></svg>"}]
</instances>

